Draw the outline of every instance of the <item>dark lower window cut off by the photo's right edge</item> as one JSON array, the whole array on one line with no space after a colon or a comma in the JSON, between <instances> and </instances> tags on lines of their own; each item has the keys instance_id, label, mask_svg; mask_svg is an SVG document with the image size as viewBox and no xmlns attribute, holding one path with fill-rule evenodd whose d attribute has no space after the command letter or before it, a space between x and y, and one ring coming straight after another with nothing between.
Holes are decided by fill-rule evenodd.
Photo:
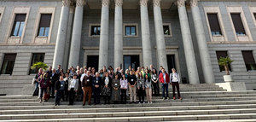
<instances>
[{"instance_id":1,"label":"dark lower window cut off by the photo's right edge","mask_svg":"<svg viewBox=\"0 0 256 122\"><path fill-rule=\"evenodd\" d=\"M256 70L256 64L253 57L253 51L252 50L243 50L241 51L243 61L247 67L247 71L250 70Z\"/></svg>"}]
</instances>

